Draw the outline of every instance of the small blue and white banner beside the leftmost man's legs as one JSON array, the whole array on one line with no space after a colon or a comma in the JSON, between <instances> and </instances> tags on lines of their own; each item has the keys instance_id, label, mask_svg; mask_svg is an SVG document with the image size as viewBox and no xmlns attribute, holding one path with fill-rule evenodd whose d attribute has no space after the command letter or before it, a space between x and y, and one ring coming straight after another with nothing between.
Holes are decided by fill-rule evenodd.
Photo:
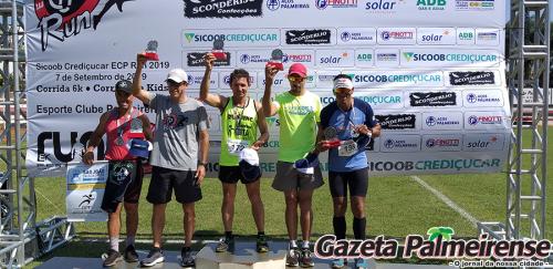
<instances>
[{"instance_id":1,"label":"small blue and white banner beside the leftmost man's legs","mask_svg":"<svg viewBox=\"0 0 553 269\"><path fill-rule=\"evenodd\" d=\"M93 165L67 164L65 174L67 221L107 220L107 214L101 208L107 172L107 162L96 162Z\"/></svg>"}]
</instances>

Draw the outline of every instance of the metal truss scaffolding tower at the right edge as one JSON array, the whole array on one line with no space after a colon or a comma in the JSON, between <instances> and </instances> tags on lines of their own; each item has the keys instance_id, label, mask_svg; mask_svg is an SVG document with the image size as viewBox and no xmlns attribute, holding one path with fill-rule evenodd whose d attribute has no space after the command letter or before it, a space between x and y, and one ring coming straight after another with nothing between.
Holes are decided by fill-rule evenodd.
<instances>
[{"instance_id":1,"label":"metal truss scaffolding tower at the right edge","mask_svg":"<svg viewBox=\"0 0 553 269\"><path fill-rule=\"evenodd\" d=\"M505 172L505 221L479 224L481 234L488 232L495 239L545 239L551 72L549 4L546 0L511 3L507 79L513 128ZM525 97L524 92L530 92L531 99ZM531 115L530 121L524 121L523 114ZM524 134L530 136L529 141L524 141Z\"/></svg>"}]
</instances>

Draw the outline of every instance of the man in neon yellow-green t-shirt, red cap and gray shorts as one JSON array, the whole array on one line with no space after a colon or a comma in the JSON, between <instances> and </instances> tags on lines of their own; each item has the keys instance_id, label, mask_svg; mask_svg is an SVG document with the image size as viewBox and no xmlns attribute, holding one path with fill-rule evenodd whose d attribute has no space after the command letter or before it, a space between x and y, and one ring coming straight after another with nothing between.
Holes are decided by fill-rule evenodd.
<instances>
[{"instance_id":1,"label":"man in neon yellow-green t-shirt, red cap and gray shorts","mask_svg":"<svg viewBox=\"0 0 553 269\"><path fill-rule=\"evenodd\" d=\"M296 168L294 163L305 158L315 147L322 105L316 94L305 90L307 69L301 63L290 66L290 91L278 94L271 102L271 86L276 73L278 70L273 66L265 68L262 102L265 116L278 114L280 118L279 162L272 187L283 192L286 201L285 221L290 239L286 265L312 267L314 262L309 244L313 223L311 203L313 190L324 184L323 176L319 165ZM298 206L303 239L301 248L296 244Z\"/></svg>"}]
</instances>

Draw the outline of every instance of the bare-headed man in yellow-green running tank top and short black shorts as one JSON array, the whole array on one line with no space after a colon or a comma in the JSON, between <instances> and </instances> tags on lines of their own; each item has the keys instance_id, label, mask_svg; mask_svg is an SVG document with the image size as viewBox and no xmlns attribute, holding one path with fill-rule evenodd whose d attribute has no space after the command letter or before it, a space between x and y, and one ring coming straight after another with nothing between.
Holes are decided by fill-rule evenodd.
<instances>
[{"instance_id":1,"label":"bare-headed man in yellow-green running tank top and short black shorts","mask_svg":"<svg viewBox=\"0 0 553 269\"><path fill-rule=\"evenodd\" d=\"M222 96L209 93L209 81L216 58L207 53L204 58L206 73L201 81L200 101L219 108L221 112L221 154L219 158L219 179L222 184L221 217L225 226L225 238L216 247L216 251L223 252L233 245L232 219L234 216L234 197L237 183L240 179L246 185L248 198L251 203L253 219L258 228L257 251L267 252L269 246L264 235L264 208L260 194L259 175L243 174L239 166L239 155L244 148L259 151L269 139L269 131L261 110L261 104L250 99L250 74L243 69L237 69L230 74L232 96ZM258 128L261 133L258 137Z\"/></svg>"}]
</instances>

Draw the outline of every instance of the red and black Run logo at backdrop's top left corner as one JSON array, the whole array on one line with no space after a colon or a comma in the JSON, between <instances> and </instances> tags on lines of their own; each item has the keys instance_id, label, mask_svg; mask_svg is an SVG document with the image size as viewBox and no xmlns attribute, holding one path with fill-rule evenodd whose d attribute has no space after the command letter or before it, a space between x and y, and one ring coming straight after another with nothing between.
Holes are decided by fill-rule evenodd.
<instances>
[{"instance_id":1,"label":"red and black Run logo at backdrop's top left corner","mask_svg":"<svg viewBox=\"0 0 553 269\"><path fill-rule=\"evenodd\" d=\"M123 3L126 1L132 0L34 0L42 51L46 50L51 38L63 42L83 30L96 30L113 6L117 6L123 12Z\"/></svg>"}]
</instances>

